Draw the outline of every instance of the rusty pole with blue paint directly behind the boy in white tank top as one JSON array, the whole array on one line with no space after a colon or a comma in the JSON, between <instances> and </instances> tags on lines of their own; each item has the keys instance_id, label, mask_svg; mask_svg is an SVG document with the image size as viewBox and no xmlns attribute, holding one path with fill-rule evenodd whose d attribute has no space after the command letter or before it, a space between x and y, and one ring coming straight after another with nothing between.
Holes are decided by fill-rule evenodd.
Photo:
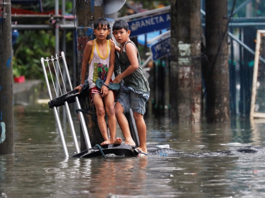
<instances>
[{"instance_id":1,"label":"rusty pole with blue paint directly behind the boy in white tank top","mask_svg":"<svg viewBox=\"0 0 265 198\"><path fill-rule=\"evenodd\" d=\"M96 21L99 18L104 16L104 3L103 0L76 0L76 15L77 15L77 46L78 46L78 79L79 83L81 82L81 67L83 61L83 53L85 45L91 39L94 39L91 36L92 29L90 27L90 20ZM88 69L86 78L88 75ZM80 99L81 107L84 110L93 111L93 106L89 100L89 96ZM96 121L96 115L94 117L87 115L86 116L86 125L91 141L91 146L101 143L104 139L101 136L98 123ZM80 127L80 131L82 131ZM83 151L87 149L84 141L83 133L80 132L80 150Z\"/></svg>"}]
</instances>

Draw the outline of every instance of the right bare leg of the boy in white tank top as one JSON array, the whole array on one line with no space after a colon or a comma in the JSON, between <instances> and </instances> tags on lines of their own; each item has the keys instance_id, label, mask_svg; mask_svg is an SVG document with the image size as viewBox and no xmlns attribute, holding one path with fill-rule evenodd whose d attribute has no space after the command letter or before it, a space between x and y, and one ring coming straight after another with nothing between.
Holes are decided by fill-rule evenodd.
<instances>
[{"instance_id":1,"label":"right bare leg of the boy in white tank top","mask_svg":"<svg viewBox=\"0 0 265 198\"><path fill-rule=\"evenodd\" d=\"M114 109L114 97L113 92L111 90L108 91L108 94L103 98L106 107L106 113L108 117L108 129L110 134L110 143L111 144L120 144L122 143L121 138L116 138L116 124L117 120L115 117L115 109ZM101 145L104 145L103 142Z\"/></svg>"}]
</instances>

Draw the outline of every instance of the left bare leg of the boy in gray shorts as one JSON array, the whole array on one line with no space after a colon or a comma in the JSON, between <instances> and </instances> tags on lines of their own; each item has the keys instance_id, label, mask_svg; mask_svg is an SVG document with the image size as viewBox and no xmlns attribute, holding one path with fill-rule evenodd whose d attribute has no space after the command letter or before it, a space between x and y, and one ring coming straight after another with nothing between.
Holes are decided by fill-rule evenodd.
<instances>
[{"instance_id":1,"label":"left bare leg of the boy in gray shorts","mask_svg":"<svg viewBox=\"0 0 265 198\"><path fill-rule=\"evenodd\" d=\"M124 109L123 109L121 103L116 102L116 104L115 104L115 115L116 115L117 121L119 123L119 126L122 130L123 136L125 138L125 143L130 144L132 146L135 146L135 142L132 140L132 136L130 133L128 120L125 117L125 115L123 114L123 112L124 112Z\"/></svg>"}]
</instances>

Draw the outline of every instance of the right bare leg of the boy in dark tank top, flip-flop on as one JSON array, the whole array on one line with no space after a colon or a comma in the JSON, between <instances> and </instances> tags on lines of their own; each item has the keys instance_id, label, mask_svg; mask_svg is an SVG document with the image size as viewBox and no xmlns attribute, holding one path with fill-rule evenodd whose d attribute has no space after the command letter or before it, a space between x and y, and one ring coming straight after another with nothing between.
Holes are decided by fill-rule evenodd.
<instances>
[{"instance_id":1,"label":"right bare leg of the boy in dark tank top, flip-flop on","mask_svg":"<svg viewBox=\"0 0 265 198\"><path fill-rule=\"evenodd\" d=\"M133 112L133 117L135 119L136 123L136 128L138 131L138 137L139 137L139 147L142 152L147 153L147 148L146 148L146 125L143 119L143 114Z\"/></svg>"}]
</instances>

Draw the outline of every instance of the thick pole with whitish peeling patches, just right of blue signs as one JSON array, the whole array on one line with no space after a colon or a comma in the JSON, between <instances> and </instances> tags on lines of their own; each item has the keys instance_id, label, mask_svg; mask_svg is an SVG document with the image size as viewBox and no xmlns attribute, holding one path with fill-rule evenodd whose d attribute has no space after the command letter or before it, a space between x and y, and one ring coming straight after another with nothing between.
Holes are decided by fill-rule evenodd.
<instances>
[{"instance_id":1,"label":"thick pole with whitish peeling patches, just right of blue signs","mask_svg":"<svg viewBox=\"0 0 265 198\"><path fill-rule=\"evenodd\" d=\"M171 0L170 114L179 123L201 121L200 7L200 0Z\"/></svg>"}]
</instances>

